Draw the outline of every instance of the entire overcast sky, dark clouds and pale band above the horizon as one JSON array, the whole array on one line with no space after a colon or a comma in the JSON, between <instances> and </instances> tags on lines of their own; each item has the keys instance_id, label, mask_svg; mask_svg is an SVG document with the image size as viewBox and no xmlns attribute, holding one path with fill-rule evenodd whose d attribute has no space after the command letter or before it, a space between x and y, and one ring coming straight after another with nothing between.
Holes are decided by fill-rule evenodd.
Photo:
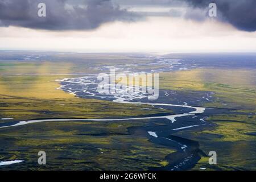
<instances>
[{"instance_id":1,"label":"entire overcast sky, dark clouds and pale band above the horizon","mask_svg":"<svg viewBox=\"0 0 256 182\"><path fill-rule=\"evenodd\" d=\"M208 16L210 2L217 17ZM0 1L3 50L256 52L255 31L254 0Z\"/></svg>"}]
</instances>

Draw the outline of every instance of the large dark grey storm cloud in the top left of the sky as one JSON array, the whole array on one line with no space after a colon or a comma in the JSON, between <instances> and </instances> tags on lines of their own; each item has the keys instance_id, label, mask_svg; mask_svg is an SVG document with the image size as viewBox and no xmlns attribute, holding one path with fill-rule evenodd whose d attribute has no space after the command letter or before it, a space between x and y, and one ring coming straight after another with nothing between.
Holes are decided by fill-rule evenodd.
<instances>
[{"instance_id":1,"label":"large dark grey storm cloud in the top left of the sky","mask_svg":"<svg viewBox=\"0 0 256 182\"><path fill-rule=\"evenodd\" d=\"M38 4L46 3L47 16L38 16ZM81 3L82 2L82 3ZM90 30L115 20L133 21L138 15L114 5L110 0L87 0L70 4L67 0L1 0L0 26L43 30Z\"/></svg>"}]
</instances>

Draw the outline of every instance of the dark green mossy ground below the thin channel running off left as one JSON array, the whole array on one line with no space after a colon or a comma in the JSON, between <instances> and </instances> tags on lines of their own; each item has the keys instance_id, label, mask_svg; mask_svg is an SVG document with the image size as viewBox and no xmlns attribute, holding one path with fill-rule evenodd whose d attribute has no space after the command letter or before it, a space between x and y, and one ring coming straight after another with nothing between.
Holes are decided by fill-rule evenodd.
<instances>
[{"instance_id":1,"label":"dark green mossy ground below the thin channel running off left","mask_svg":"<svg viewBox=\"0 0 256 182\"><path fill-rule=\"evenodd\" d=\"M130 169L164 165L172 150L127 134L126 128L146 123L48 122L1 130L2 159L26 159L11 169ZM38 151L47 152L47 165L37 164ZM9 169L5 167L3 169Z\"/></svg>"}]
</instances>

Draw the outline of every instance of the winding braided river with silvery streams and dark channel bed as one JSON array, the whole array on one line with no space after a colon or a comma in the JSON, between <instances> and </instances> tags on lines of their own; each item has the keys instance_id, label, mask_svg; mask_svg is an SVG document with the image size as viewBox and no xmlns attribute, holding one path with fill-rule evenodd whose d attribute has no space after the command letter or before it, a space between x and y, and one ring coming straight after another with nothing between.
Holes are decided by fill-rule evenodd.
<instances>
[{"instance_id":1,"label":"winding braided river with silvery streams and dark channel bed","mask_svg":"<svg viewBox=\"0 0 256 182\"><path fill-rule=\"evenodd\" d=\"M160 71L183 70L187 68L179 68L178 60L161 60L156 61L158 64L169 63L170 68L161 69ZM102 68L104 71L105 68ZM118 68L121 69L121 68ZM122 68L123 70L123 68ZM130 70L129 70L130 72ZM157 70L155 71L157 72ZM159 114L148 115L145 117L131 117L131 118L88 118L88 119L72 119L72 118L55 118L55 119L32 119L27 121L15 121L0 123L1 128L16 127L29 125L39 122L63 122L63 121L134 121L137 119L147 119L148 125L141 127L129 127L127 130L130 135L136 131L143 131L148 139L165 147L175 148L176 152L166 156L169 164L162 168L150 168L152 170L185 170L189 169L200 160L201 155L205 155L200 150L199 143L193 140L176 137L172 134L184 130L203 130L205 127L213 126L212 123L207 122L208 114L220 113L221 109L214 109L208 107L200 107L204 102L211 102L213 99L212 92L193 92L183 93L174 90L159 90L158 100L147 100L147 95L142 93L126 94L102 94L97 92L97 75L88 75L79 78L64 78L57 80L61 86L59 89L73 94L81 98L94 98L98 100L112 101L119 104L134 104L134 105L149 105L165 111L173 111L177 114ZM185 96L185 97L184 97ZM170 100L171 98L171 100ZM194 106L193 106L194 105ZM199 106L195 106L199 105ZM146 110L145 110L146 113ZM155 125L155 122L164 121L165 125ZM20 162L20 161L18 161ZM13 162L15 163L15 162Z\"/></svg>"}]
</instances>

